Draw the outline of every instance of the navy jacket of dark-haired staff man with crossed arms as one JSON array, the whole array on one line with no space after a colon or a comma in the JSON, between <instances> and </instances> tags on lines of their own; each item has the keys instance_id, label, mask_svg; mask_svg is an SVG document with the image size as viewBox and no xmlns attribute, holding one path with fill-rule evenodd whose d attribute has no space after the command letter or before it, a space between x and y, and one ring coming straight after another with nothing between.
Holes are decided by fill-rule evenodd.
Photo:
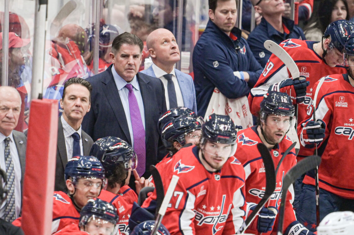
<instances>
[{"instance_id":1,"label":"navy jacket of dark-haired staff man with crossed arms","mask_svg":"<svg viewBox=\"0 0 354 235\"><path fill-rule=\"evenodd\" d=\"M193 71L198 114L204 117L215 87L229 99L248 95L262 72L241 30L233 28L230 37L211 20L193 50ZM250 81L233 72L245 71Z\"/></svg>"}]
</instances>

